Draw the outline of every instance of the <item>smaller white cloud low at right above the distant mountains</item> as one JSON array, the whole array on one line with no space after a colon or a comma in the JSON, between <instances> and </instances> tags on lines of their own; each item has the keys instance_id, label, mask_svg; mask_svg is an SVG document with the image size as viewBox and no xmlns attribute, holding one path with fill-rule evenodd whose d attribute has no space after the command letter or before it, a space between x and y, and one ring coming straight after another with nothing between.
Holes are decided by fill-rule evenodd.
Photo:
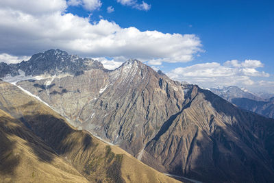
<instances>
[{"instance_id":1,"label":"smaller white cloud low at right above the distant mountains","mask_svg":"<svg viewBox=\"0 0 274 183\"><path fill-rule=\"evenodd\" d=\"M224 64L208 62L192 66L178 67L167 75L173 80L199 84L203 87L214 86L252 86L257 84L253 77L269 77L269 73L257 69L264 66L259 60L227 61Z\"/></svg>"}]
</instances>

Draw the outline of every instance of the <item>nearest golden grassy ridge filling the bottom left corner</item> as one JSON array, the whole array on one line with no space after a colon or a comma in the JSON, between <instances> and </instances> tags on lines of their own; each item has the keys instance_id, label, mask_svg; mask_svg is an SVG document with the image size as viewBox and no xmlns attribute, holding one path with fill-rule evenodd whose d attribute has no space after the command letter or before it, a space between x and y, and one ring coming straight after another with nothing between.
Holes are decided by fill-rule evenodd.
<instances>
[{"instance_id":1,"label":"nearest golden grassy ridge filling the bottom left corner","mask_svg":"<svg viewBox=\"0 0 274 183\"><path fill-rule=\"evenodd\" d=\"M3 110L0 110L0 144L0 182L88 182L69 162Z\"/></svg>"}]
</instances>

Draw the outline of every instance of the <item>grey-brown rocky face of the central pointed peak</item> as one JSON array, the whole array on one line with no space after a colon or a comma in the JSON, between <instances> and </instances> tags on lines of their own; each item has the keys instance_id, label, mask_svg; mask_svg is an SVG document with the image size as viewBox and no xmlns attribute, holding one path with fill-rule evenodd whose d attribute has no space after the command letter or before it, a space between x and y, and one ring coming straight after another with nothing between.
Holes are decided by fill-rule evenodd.
<instances>
[{"instance_id":1,"label":"grey-brown rocky face of the central pointed peak","mask_svg":"<svg viewBox=\"0 0 274 183\"><path fill-rule=\"evenodd\" d=\"M184 90L137 60L119 69L18 83L71 123L137 156L164 121L182 108Z\"/></svg>"}]
</instances>

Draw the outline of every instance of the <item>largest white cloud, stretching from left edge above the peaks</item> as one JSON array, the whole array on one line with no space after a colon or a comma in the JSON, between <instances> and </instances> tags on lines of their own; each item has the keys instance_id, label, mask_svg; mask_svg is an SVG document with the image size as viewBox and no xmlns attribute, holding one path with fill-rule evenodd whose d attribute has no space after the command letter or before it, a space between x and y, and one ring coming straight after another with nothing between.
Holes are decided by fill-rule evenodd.
<instances>
[{"instance_id":1,"label":"largest white cloud, stretching from left edge above the peaks","mask_svg":"<svg viewBox=\"0 0 274 183\"><path fill-rule=\"evenodd\" d=\"M123 28L104 19L92 22L90 18L66 13L66 4L63 5L62 0L51 1L56 7L41 14L27 12L23 4L1 1L0 53L22 56L58 48L80 56L123 56L151 60L151 64L155 60L159 65L162 62L188 62L201 51L201 40L194 34L142 32L136 27ZM36 0L28 2L35 3Z\"/></svg>"}]
</instances>

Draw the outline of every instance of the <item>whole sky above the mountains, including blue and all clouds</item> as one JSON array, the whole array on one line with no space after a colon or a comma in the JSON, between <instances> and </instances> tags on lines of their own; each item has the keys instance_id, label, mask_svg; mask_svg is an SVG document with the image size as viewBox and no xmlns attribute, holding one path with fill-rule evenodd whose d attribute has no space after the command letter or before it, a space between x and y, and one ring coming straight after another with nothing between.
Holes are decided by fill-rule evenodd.
<instances>
[{"instance_id":1,"label":"whole sky above the mountains, including blue and all clouds","mask_svg":"<svg viewBox=\"0 0 274 183\"><path fill-rule=\"evenodd\" d=\"M161 69L174 80L186 80L203 87L274 88L273 1L27 2L34 3L34 8L40 11L25 9L22 1L0 2L0 14L6 22L0 29L2 61L7 58L20 60L36 52L59 48L97 58L110 68L119 66L127 58L137 58L154 69ZM23 15L13 19L14 15L7 10ZM31 18L20 22L21 16ZM87 19L91 26L87 25ZM25 23L34 30L16 27L15 23L21 26ZM78 29L79 35L84 36L77 35ZM37 34L38 31L43 34ZM18 38L19 41L15 41ZM90 43L94 38L95 43ZM3 43L7 41L11 44ZM21 47L14 46L17 44Z\"/></svg>"}]
</instances>

